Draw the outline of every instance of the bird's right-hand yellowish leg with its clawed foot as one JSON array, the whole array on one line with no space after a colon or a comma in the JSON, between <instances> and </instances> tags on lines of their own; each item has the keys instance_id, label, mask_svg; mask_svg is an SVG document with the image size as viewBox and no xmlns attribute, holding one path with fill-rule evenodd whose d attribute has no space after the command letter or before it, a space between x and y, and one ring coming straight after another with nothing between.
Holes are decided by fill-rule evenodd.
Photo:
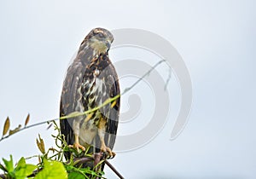
<instances>
[{"instance_id":1,"label":"bird's right-hand yellowish leg with its clawed foot","mask_svg":"<svg viewBox=\"0 0 256 179\"><path fill-rule=\"evenodd\" d=\"M110 157L113 158L115 156L115 153L113 153L112 150L106 146L105 141L104 141L106 123L107 123L107 120L105 118L101 118L99 121L99 125L98 125L98 135L101 140L101 151L103 153L108 152Z\"/></svg>"}]
</instances>

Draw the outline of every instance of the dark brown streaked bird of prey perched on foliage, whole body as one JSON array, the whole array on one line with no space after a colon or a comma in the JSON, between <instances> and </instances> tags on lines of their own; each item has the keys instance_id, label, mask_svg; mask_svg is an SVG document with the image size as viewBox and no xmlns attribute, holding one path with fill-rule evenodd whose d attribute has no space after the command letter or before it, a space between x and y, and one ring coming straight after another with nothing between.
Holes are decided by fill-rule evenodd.
<instances>
[{"instance_id":1,"label":"dark brown streaked bird of prey perched on foliage, whole body","mask_svg":"<svg viewBox=\"0 0 256 179\"><path fill-rule=\"evenodd\" d=\"M111 32L95 28L84 38L61 92L60 115L83 113L99 107L104 101L119 95L119 81L108 50L113 42ZM88 115L61 119L61 133L67 144L77 150L92 146L93 152L113 156L113 144L118 128L119 98Z\"/></svg>"}]
</instances>

